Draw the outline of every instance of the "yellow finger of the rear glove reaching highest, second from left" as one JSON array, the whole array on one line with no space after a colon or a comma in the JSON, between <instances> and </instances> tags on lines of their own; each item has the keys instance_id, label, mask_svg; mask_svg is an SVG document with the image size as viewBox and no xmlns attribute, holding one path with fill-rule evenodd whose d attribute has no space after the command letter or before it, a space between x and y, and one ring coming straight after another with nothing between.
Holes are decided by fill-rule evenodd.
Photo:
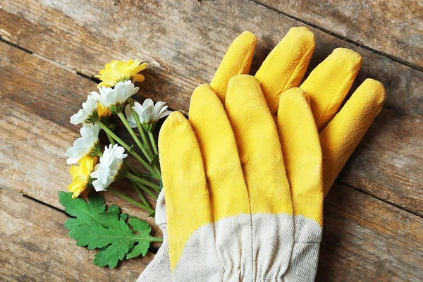
<instances>
[{"instance_id":1,"label":"yellow finger of the rear glove reaching highest, second from left","mask_svg":"<svg viewBox=\"0 0 423 282\"><path fill-rule=\"evenodd\" d=\"M278 111L281 93L300 85L315 45L313 32L307 27L292 27L257 71L255 77L272 114Z\"/></svg>"}]
</instances>

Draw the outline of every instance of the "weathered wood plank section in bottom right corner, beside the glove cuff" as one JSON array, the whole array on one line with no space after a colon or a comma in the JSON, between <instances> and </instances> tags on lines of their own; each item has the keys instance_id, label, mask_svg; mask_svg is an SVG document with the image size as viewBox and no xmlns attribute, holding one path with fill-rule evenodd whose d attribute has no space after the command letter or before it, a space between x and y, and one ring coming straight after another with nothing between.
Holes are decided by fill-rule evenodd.
<instances>
[{"instance_id":1,"label":"weathered wood plank section in bottom right corner, beside the glove cuff","mask_svg":"<svg viewBox=\"0 0 423 282\"><path fill-rule=\"evenodd\" d=\"M326 198L317 281L422 281L423 219L345 185Z\"/></svg>"}]
</instances>

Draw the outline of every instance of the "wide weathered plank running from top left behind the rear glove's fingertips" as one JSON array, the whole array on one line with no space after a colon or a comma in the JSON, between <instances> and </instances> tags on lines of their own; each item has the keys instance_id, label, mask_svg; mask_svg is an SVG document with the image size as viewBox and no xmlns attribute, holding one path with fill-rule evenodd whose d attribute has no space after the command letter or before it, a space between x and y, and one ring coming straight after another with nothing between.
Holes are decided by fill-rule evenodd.
<instances>
[{"instance_id":1,"label":"wide weathered plank running from top left behind the rear glove's fingertips","mask_svg":"<svg viewBox=\"0 0 423 282\"><path fill-rule=\"evenodd\" d=\"M53 61L94 75L111 59L149 62L140 97L187 113L195 86L212 78L224 51L243 30L259 38L253 69L290 27L292 18L252 1L4 1L1 37ZM388 99L340 180L423 215L423 73L310 29L314 67L336 47L359 52L365 78L384 83ZM61 88L63 89L63 88ZM77 109L78 103L73 103Z\"/></svg>"}]
</instances>

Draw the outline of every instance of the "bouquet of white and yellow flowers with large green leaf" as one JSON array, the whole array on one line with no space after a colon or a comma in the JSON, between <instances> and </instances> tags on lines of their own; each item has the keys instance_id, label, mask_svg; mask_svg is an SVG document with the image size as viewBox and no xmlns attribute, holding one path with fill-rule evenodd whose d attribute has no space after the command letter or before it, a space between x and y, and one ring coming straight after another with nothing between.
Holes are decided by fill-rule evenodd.
<instances>
[{"instance_id":1,"label":"bouquet of white and yellow flowers with large green leaf","mask_svg":"<svg viewBox=\"0 0 423 282\"><path fill-rule=\"evenodd\" d=\"M71 166L69 192L59 192L59 201L65 212L73 216L65 223L71 238L77 240L77 245L89 250L99 249L94 258L94 264L98 266L114 268L125 257L130 259L145 255L149 243L162 240L149 235L151 228L147 221L121 213L114 204L106 209L104 197L98 193L107 190L154 217L154 209L146 195L157 200L161 190L161 173L152 132L157 121L171 111L167 110L164 102L154 104L152 99L146 99L140 104L133 101L133 95L139 90L134 83L145 79L140 74L145 68L147 63L139 60L107 63L104 70L96 75L101 80L99 92L88 94L82 109L71 116L72 124L82 124L81 137L66 150L66 162L77 165ZM133 137L135 148L114 132L114 116ZM104 139L109 144L100 142L102 134L106 135L107 139ZM139 162L147 173L131 165L127 161L128 155ZM140 202L110 187L114 181L123 179L130 181ZM79 197L82 192L89 192L88 202Z\"/></svg>"}]
</instances>

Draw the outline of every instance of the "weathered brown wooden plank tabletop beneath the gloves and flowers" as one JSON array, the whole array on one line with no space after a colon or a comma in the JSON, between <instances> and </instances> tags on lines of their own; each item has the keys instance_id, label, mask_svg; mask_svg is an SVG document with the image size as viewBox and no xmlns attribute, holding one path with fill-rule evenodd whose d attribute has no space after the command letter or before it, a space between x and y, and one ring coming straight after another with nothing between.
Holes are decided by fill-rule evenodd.
<instances>
[{"instance_id":1,"label":"weathered brown wooden plank tabletop beneath the gloves and flowers","mask_svg":"<svg viewBox=\"0 0 423 282\"><path fill-rule=\"evenodd\" d=\"M317 280L422 281L422 22L413 0L1 1L0 281L135 281L154 257L99 268L63 227L63 153L79 135L69 118L104 63L147 61L137 99L187 114L236 35L257 35L254 72L294 26L316 35L311 68L336 47L353 49L364 59L353 88L374 78L388 94L326 198Z\"/></svg>"}]
</instances>

